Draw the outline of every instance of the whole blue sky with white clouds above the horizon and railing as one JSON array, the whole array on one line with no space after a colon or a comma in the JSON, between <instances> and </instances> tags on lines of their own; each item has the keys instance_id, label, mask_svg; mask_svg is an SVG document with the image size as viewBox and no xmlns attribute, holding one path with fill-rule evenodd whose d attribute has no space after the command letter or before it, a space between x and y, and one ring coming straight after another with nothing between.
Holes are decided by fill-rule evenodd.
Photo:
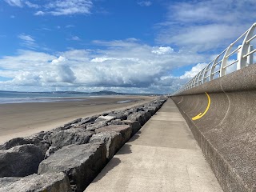
<instances>
[{"instance_id":1,"label":"whole blue sky with white clouds above the horizon and railing","mask_svg":"<svg viewBox=\"0 0 256 192\"><path fill-rule=\"evenodd\" d=\"M0 0L0 90L171 94L255 21L255 0Z\"/></svg>"}]
</instances>

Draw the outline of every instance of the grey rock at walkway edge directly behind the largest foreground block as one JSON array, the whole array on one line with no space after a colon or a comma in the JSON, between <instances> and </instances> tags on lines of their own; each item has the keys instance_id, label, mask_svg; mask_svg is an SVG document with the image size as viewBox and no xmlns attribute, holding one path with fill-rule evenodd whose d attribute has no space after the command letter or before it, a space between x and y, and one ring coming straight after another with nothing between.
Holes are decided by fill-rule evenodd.
<instances>
[{"instance_id":1,"label":"grey rock at walkway edge directly behind the largest foreground block","mask_svg":"<svg viewBox=\"0 0 256 192\"><path fill-rule=\"evenodd\" d=\"M90 143L103 142L106 144L106 158L110 160L114 154L122 146L122 134L116 131L106 131L98 134L94 134L90 138Z\"/></svg>"}]
</instances>

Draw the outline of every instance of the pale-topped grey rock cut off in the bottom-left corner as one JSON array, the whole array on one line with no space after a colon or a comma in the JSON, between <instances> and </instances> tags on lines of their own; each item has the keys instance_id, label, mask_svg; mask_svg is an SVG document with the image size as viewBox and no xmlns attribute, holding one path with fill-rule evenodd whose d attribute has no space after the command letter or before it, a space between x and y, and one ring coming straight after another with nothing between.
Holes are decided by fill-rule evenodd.
<instances>
[{"instance_id":1,"label":"pale-topped grey rock cut off in the bottom-left corner","mask_svg":"<svg viewBox=\"0 0 256 192\"><path fill-rule=\"evenodd\" d=\"M31 174L24 178L0 178L0 192L71 192L66 174Z\"/></svg>"}]
</instances>

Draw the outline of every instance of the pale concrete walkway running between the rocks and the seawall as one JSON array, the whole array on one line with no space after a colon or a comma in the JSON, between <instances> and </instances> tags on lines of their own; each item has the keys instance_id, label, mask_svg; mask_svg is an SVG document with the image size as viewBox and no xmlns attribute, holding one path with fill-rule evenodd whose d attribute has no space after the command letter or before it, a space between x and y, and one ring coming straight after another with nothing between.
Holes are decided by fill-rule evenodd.
<instances>
[{"instance_id":1,"label":"pale concrete walkway running between the rocks and the seawall","mask_svg":"<svg viewBox=\"0 0 256 192\"><path fill-rule=\"evenodd\" d=\"M169 99L86 192L221 192L182 114Z\"/></svg>"}]
</instances>

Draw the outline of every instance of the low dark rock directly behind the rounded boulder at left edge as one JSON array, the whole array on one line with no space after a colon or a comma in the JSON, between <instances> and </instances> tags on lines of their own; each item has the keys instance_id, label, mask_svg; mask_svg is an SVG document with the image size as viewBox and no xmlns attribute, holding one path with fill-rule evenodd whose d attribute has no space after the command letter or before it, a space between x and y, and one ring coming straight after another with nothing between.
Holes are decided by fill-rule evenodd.
<instances>
[{"instance_id":1,"label":"low dark rock directly behind the rounded boulder at left edge","mask_svg":"<svg viewBox=\"0 0 256 192\"><path fill-rule=\"evenodd\" d=\"M25 144L34 144L35 146L39 146L42 149L43 154L46 153L50 146L50 142L46 140L40 140L38 138L30 137L30 138L13 138L8 142L5 142L2 146L0 146L0 150L9 150L14 146L21 146Z\"/></svg>"}]
</instances>

